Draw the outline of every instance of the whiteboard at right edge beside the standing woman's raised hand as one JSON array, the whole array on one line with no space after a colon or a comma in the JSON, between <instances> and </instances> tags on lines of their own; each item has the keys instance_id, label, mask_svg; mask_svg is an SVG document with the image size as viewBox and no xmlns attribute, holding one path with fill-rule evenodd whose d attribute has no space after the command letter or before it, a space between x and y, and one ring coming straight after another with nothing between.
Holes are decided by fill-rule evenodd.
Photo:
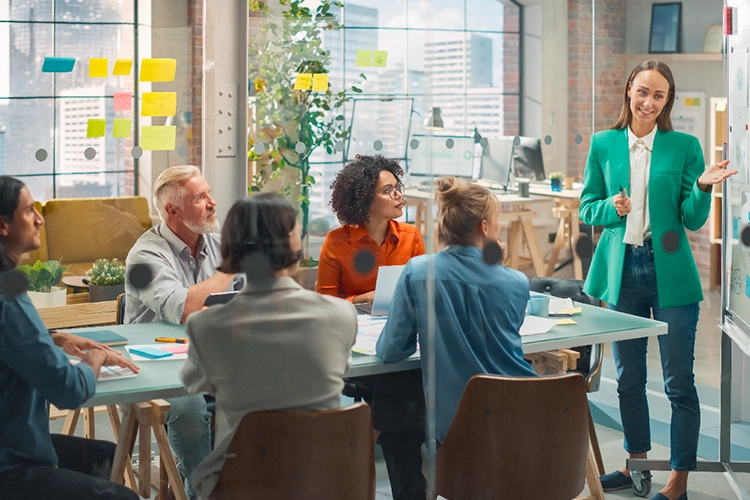
<instances>
[{"instance_id":1,"label":"whiteboard at right edge beside the standing woman's raised hand","mask_svg":"<svg viewBox=\"0 0 750 500\"><path fill-rule=\"evenodd\" d=\"M728 0L737 7L737 31L727 36L726 86L728 113L728 158L739 173L725 185L723 242L723 299L727 315L750 337L750 246L742 243L743 231L750 235L750 113L748 113L748 65L750 62L750 0Z\"/></svg>"}]
</instances>

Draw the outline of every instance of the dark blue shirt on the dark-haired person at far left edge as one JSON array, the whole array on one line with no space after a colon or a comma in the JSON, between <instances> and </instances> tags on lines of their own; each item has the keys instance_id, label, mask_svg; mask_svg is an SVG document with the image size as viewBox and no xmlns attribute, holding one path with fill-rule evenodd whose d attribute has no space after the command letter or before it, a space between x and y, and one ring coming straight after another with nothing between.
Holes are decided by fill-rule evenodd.
<instances>
[{"instance_id":1,"label":"dark blue shirt on the dark-haired person at far left edge","mask_svg":"<svg viewBox=\"0 0 750 500\"><path fill-rule=\"evenodd\" d=\"M56 466L47 401L78 408L94 395L96 377L90 366L70 364L26 294L0 294L0 388L0 472Z\"/></svg>"}]
</instances>

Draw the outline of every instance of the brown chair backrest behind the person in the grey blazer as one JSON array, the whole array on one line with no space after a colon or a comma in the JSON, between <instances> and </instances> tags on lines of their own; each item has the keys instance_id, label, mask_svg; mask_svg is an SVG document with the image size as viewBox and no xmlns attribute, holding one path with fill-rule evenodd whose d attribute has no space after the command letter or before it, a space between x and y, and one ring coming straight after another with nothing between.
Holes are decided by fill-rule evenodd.
<instances>
[{"instance_id":1,"label":"brown chair backrest behind the person in the grey blazer","mask_svg":"<svg viewBox=\"0 0 750 500\"><path fill-rule=\"evenodd\" d=\"M372 500L375 455L364 403L242 419L211 500Z\"/></svg>"}]
</instances>

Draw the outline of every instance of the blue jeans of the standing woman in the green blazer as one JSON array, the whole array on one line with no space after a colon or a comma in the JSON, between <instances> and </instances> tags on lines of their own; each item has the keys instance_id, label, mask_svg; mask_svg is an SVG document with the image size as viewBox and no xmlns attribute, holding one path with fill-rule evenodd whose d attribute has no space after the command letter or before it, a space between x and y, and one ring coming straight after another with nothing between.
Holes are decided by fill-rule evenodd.
<instances>
[{"instance_id":1,"label":"blue jeans of the standing woman in the green blazer","mask_svg":"<svg viewBox=\"0 0 750 500\"><path fill-rule=\"evenodd\" d=\"M698 303L678 307L659 307L656 268L651 240L639 247L627 245L622 272L620 299L610 309L667 323L666 335L660 335L659 351L664 374L664 391L672 406L670 427L670 467L695 469L700 430L700 405L695 389L693 361ZM674 279L679 280L679 276ZM648 338L614 342L617 366L617 394L625 435L625 451L646 453L651 449L648 401L646 399L646 351Z\"/></svg>"}]
</instances>

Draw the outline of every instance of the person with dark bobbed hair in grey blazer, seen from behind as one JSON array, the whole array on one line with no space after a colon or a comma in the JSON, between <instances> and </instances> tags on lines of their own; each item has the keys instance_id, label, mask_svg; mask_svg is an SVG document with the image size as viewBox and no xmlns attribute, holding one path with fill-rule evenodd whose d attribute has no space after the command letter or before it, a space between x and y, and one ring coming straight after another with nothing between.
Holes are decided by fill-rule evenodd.
<instances>
[{"instance_id":1,"label":"person with dark bobbed hair in grey blazer, seen from behind","mask_svg":"<svg viewBox=\"0 0 750 500\"><path fill-rule=\"evenodd\" d=\"M193 474L201 498L216 486L245 414L341 404L356 311L344 300L297 284L292 276L301 256L301 228L282 196L255 195L229 210L219 271L246 272L248 281L227 304L188 318L190 350L180 372L189 391L216 398L214 451Z\"/></svg>"}]
</instances>

